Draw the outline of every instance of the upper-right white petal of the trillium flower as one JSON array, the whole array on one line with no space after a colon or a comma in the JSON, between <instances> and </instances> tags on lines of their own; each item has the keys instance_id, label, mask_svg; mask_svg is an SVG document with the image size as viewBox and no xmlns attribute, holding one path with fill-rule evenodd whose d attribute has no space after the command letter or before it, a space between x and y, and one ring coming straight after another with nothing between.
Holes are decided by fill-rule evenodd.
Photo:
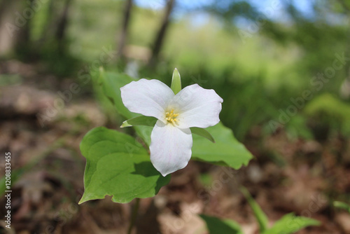
<instances>
[{"instance_id":1,"label":"upper-right white petal of the trillium flower","mask_svg":"<svg viewBox=\"0 0 350 234\"><path fill-rule=\"evenodd\" d=\"M207 128L220 121L219 113L223 99L214 90L194 84L183 88L172 99L168 109L179 113L179 128Z\"/></svg>"}]
</instances>

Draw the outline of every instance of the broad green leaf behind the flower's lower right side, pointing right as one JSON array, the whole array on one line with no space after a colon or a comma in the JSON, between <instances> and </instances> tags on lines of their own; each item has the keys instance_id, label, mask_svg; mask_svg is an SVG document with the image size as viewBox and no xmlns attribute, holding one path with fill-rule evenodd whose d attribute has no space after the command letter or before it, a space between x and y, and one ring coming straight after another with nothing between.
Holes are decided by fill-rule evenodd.
<instances>
[{"instance_id":1,"label":"broad green leaf behind the flower's lower right side, pointing right","mask_svg":"<svg viewBox=\"0 0 350 234\"><path fill-rule=\"evenodd\" d=\"M235 139L230 128L218 123L207 130L214 137L216 143L209 144L207 139L193 135L193 159L235 169L239 169L242 165L248 165L253 156L243 144Z\"/></svg>"}]
</instances>

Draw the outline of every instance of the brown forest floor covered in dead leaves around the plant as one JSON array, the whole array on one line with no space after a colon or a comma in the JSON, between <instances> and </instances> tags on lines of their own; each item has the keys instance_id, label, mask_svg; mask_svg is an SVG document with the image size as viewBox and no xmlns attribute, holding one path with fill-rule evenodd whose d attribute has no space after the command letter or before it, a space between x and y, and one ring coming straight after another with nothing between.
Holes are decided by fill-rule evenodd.
<instances>
[{"instance_id":1,"label":"brown forest floor covered in dead leaves around the plant","mask_svg":"<svg viewBox=\"0 0 350 234\"><path fill-rule=\"evenodd\" d=\"M0 86L0 154L11 153L12 171L18 174L12 185L12 228L0 227L0 233L127 233L134 201L117 204L107 197L78 205L85 167L80 141L94 127L116 125L89 92L73 94L63 106L57 91L69 90L73 80L38 76L37 67L15 60L0 64L0 73L22 77L15 85ZM198 216L203 213L233 219L246 234L259 233L240 186L248 188L271 225L294 212L322 223L298 233L350 233L350 214L331 205L349 198L349 139L289 139L283 130L264 136L254 126L244 144L255 159L240 170L191 161L172 174L158 195L141 200L134 233L208 233ZM1 217L4 202L2 196Z\"/></svg>"}]
</instances>

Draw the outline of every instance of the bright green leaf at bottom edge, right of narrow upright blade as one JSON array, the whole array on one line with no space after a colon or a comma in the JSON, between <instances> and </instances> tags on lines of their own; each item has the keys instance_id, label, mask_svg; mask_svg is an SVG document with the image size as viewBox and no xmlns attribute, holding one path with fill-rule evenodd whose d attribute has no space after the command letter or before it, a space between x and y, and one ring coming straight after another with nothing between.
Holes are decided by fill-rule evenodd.
<instances>
[{"instance_id":1,"label":"bright green leaf at bottom edge, right of narrow upright blade","mask_svg":"<svg viewBox=\"0 0 350 234\"><path fill-rule=\"evenodd\" d=\"M293 213L286 214L269 230L265 230L262 234L290 234L296 233L298 230L307 226L319 226L320 222L315 219L309 219L304 216L295 216Z\"/></svg>"}]
</instances>

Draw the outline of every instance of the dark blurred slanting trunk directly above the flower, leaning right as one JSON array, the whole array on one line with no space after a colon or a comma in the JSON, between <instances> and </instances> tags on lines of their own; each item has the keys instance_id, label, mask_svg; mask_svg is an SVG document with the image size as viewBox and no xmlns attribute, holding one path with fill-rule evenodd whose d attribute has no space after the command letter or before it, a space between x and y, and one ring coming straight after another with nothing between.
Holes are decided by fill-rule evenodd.
<instances>
[{"instance_id":1,"label":"dark blurred slanting trunk directly above the flower, leaning right","mask_svg":"<svg viewBox=\"0 0 350 234\"><path fill-rule=\"evenodd\" d=\"M165 34L167 32L167 28L169 25L169 18L170 18L170 15L172 13L172 10L174 8L174 1L175 0L168 0L167 1L167 6L166 6L164 18L162 20L162 25L160 26L158 34L155 37L155 42L153 43L151 60L148 63L148 65L150 67L154 67L158 61L158 55L159 55L160 50L162 48L162 44L163 44L163 41L165 39Z\"/></svg>"}]
</instances>

